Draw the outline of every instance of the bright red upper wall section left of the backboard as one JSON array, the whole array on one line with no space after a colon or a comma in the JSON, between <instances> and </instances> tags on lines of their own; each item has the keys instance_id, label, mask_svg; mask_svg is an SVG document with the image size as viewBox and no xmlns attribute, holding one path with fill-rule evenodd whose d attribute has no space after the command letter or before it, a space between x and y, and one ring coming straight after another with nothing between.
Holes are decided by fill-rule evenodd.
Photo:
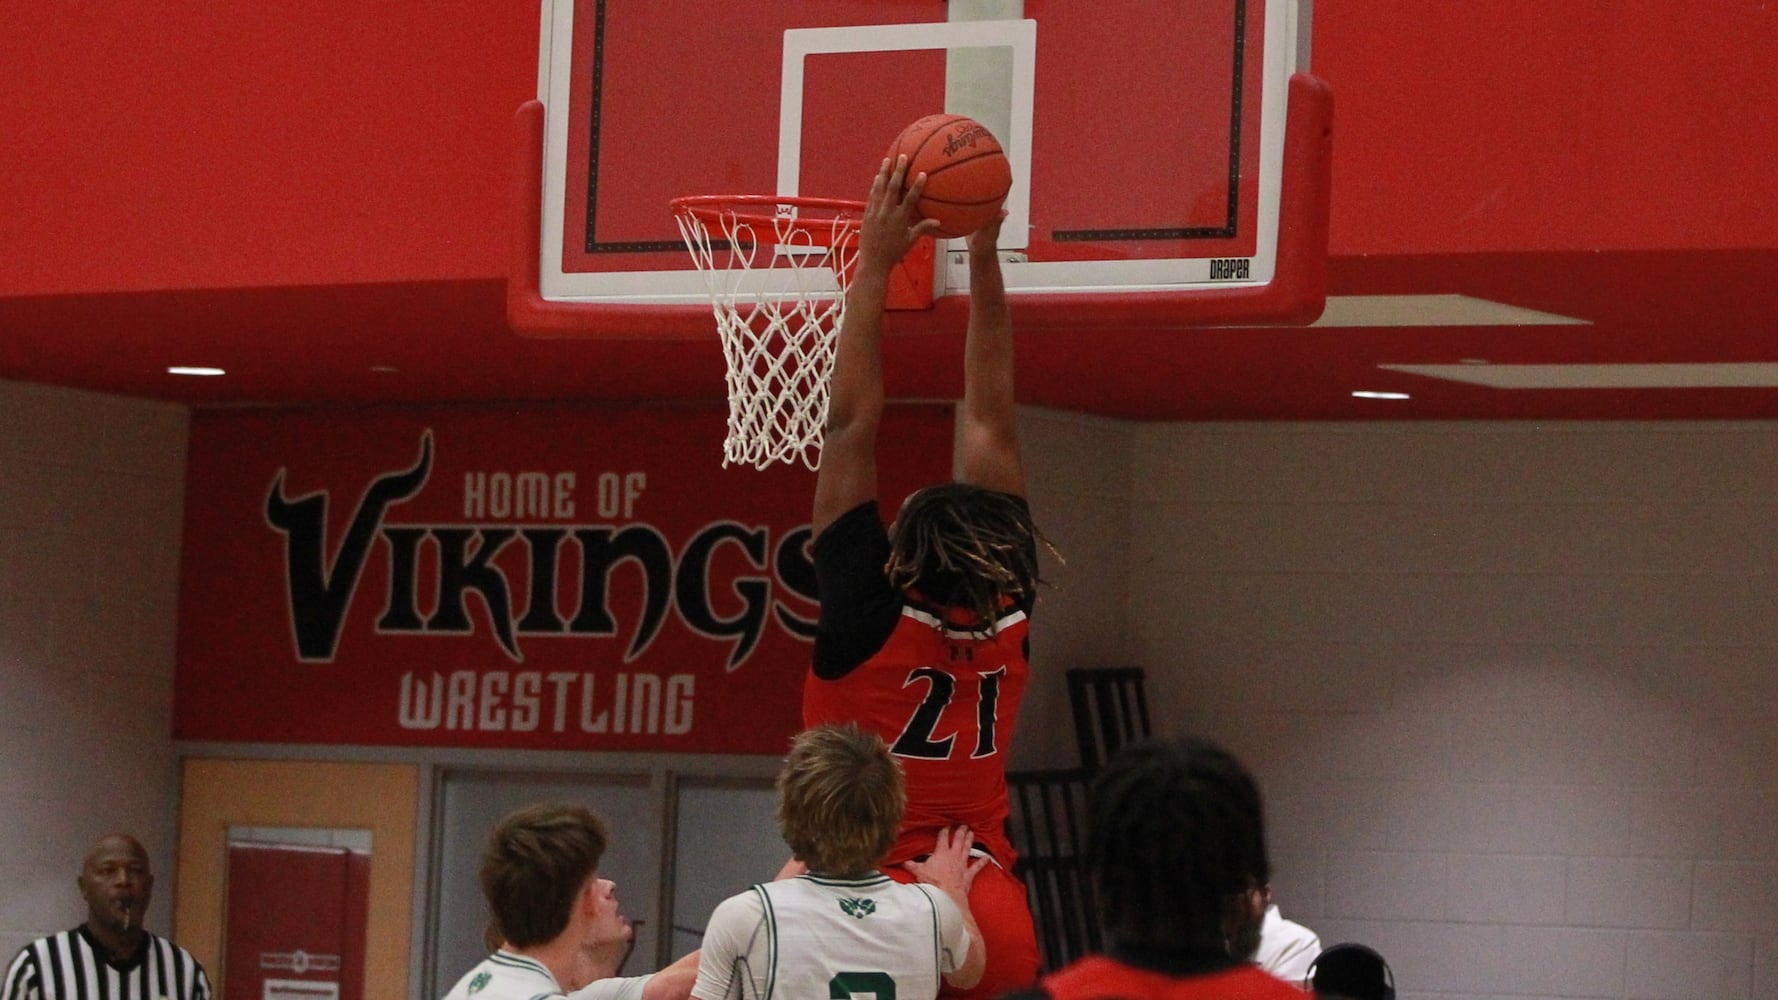
<instances>
[{"instance_id":1,"label":"bright red upper wall section left of the backboard","mask_svg":"<svg viewBox=\"0 0 1778 1000\"><path fill-rule=\"evenodd\" d=\"M9 4L0 295L503 274L535 4Z\"/></svg>"}]
</instances>

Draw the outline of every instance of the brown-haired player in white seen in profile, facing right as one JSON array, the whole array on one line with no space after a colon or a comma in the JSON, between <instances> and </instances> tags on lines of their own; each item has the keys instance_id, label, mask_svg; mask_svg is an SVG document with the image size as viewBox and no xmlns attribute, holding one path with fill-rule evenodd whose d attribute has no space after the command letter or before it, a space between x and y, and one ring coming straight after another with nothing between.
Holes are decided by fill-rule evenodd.
<instances>
[{"instance_id":1,"label":"brown-haired player in white seen in profile, facing right","mask_svg":"<svg viewBox=\"0 0 1778 1000\"><path fill-rule=\"evenodd\" d=\"M482 851L493 956L446 1000L679 1000L697 952L660 973L617 977L635 929L599 877L605 824L585 806L539 802L500 820Z\"/></svg>"}]
</instances>

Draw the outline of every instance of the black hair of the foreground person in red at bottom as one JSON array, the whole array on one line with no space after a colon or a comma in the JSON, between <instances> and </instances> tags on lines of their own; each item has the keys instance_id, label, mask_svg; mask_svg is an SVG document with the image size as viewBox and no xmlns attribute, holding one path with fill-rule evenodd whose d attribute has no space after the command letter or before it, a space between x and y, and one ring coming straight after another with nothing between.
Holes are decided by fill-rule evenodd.
<instances>
[{"instance_id":1,"label":"black hair of the foreground person in red at bottom","mask_svg":"<svg viewBox=\"0 0 1778 1000\"><path fill-rule=\"evenodd\" d=\"M1122 940L1221 947L1229 900L1271 881L1259 786L1207 740L1124 747L1086 797L1086 870Z\"/></svg>"}]
</instances>

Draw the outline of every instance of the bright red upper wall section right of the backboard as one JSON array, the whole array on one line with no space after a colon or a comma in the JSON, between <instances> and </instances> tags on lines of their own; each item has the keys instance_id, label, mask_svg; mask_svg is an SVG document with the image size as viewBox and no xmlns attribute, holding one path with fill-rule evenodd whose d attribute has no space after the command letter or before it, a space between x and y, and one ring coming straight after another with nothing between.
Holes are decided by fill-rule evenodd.
<instances>
[{"instance_id":1,"label":"bright red upper wall section right of the backboard","mask_svg":"<svg viewBox=\"0 0 1778 1000\"><path fill-rule=\"evenodd\" d=\"M1317 4L1332 253L1773 246L1774 66L1746 0Z\"/></svg>"}]
</instances>

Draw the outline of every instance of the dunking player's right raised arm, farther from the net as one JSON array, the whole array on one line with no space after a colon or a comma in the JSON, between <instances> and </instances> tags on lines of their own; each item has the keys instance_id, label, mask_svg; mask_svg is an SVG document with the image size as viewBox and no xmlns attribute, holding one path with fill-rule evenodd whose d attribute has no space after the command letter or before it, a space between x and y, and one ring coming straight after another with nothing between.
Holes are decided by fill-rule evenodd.
<instances>
[{"instance_id":1,"label":"dunking player's right raised arm, farther from the net","mask_svg":"<svg viewBox=\"0 0 1778 1000\"><path fill-rule=\"evenodd\" d=\"M969 235L969 336L964 342L962 479L1024 496L1012 391L1012 310L999 267L1001 212Z\"/></svg>"}]
</instances>

